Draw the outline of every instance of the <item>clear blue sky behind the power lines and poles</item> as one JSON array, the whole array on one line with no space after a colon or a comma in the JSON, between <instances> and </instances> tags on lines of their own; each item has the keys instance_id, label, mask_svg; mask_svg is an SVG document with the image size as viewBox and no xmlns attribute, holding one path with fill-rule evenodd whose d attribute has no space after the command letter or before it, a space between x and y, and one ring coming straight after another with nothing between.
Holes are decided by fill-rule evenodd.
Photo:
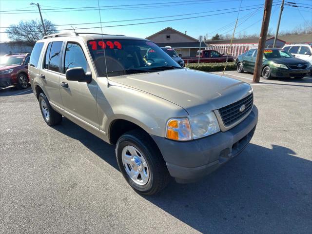
<instances>
[{"instance_id":1,"label":"clear blue sky behind the power lines and poles","mask_svg":"<svg viewBox=\"0 0 312 234\"><path fill-rule=\"evenodd\" d=\"M192 2L193 1L193 2ZM291 2L296 2L297 4L305 7L312 7L312 0L290 0ZM2 27L7 27L10 24L16 24L20 20L30 20L39 19L39 12L36 11L30 14L3 14L8 10L36 10L36 5L30 5L32 0L0 0L0 32L5 29ZM93 7L98 6L98 0L35 0L41 6L41 9L52 9L54 8L73 8L73 7ZM164 3L166 4L159 4ZM179 3L177 3L179 2ZM274 3L275 2L275 3ZM273 5L279 3L280 0L273 0ZM286 0L287 2L287 0ZM151 4L152 5L140 5L131 6L133 4ZM158 3L158 4L157 4ZM105 10L101 10L102 21L114 21L114 20L130 20L130 19L141 19L141 18L153 18L162 16L172 16L172 15L183 15L191 13L192 14L179 17L162 18L162 19L152 19L152 20L136 20L136 21L124 21L124 22L109 22L103 23L102 26L111 26L119 24L129 24L129 23L140 23L140 22L151 22L158 20L173 20L179 18L195 17L195 16L205 16L210 14L219 14L215 16L201 17L196 19L187 20L176 20L169 22L158 22L150 24L141 25L128 25L119 27L107 27L103 28L103 33L106 34L124 34L127 36L134 36L140 38L146 38L163 28L172 27L178 31L187 31L187 34L198 38L199 35L213 36L215 33L225 34L232 33L234 28L234 22L237 16L238 9L231 9L226 11L216 11L229 8L238 8L241 3L241 12L239 13L238 21L239 25L236 32L254 34L260 31L261 19L263 16L263 8L246 10L248 8L258 8L261 4L264 4L264 0L99 0L100 6L114 6L108 7ZM119 5L130 5L119 7ZM168 5L168 6L164 6ZM256 5L256 6L253 6ZM251 6L251 7L248 7ZM119 8L119 9L117 9ZM90 9L90 8L88 8ZM272 16L269 28L276 28L278 14L279 14L280 4L273 6ZM299 11L298 11L299 9ZM215 12L210 12L215 11ZM220 14L224 12L231 12L227 14ZM301 14L300 14L301 13ZM56 25L59 24L74 24L74 23L89 23L89 22L99 22L99 12L98 10L93 11L71 11L71 12L43 12L43 18L51 20ZM298 25L303 25L305 22L311 23L312 21L312 9L310 8L295 8L286 6L284 8L280 30L291 30ZM232 23L232 24L231 24ZM231 24L231 25L229 25ZM229 26L226 26L229 25ZM85 27L100 27L100 24L86 24L86 25L73 25L77 28ZM225 27L226 26L226 27ZM58 26L58 29L69 29L71 26ZM95 32L100 33L100 29L83 29L77 30L78 32ZM7 41L8 38L6 34L0 33L0 41Z\"/></svg>"}]
</instances>

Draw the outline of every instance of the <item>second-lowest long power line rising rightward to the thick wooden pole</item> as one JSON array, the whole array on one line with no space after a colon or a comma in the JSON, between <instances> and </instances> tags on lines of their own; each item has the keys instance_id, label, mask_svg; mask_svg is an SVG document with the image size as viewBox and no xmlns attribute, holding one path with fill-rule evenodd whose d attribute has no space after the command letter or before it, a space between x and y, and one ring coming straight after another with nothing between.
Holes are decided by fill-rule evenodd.
<instances>
[{"instance_id":1,"label":"second-lowest long power line rising rightward to the thick wooden pole","mask_svg":"<svg viewBox=\"0 0 312 234\"><path fill-rule=\"evenodd\" d=\"M242 8L252 7L252 6L263 6L263 4L249 5L249 6L244 6ZM114 22L126 22L126 21L136 21L136 20L153 20L153 19L170 18L170 17L177 17L177 16L188 16L188 15L204 14L204 13L217 12L217 11L227 11L227 10L233 10L233 9L238 9L238 7L227 8L227 9L219 9L219 10L213 10L213 11L203 11L203 12L196 12L196 13L180 14L180 15L173 15L173 16L160 16L160 17L151 17L151 18L140 18L140 19L130 19L130 20L114 20L114 21L90 22L90 23L69 23L69 24L58 24L58 25L55 25L55 26L70 26L70 25L98 24L98 23L114 23ZM35 26L33 26L33 27L35 27ZM0 27L0 28L10 28L10 27ZM15 28L23 28L23 27L17 26Z\"/></svg>"}]
</instances>

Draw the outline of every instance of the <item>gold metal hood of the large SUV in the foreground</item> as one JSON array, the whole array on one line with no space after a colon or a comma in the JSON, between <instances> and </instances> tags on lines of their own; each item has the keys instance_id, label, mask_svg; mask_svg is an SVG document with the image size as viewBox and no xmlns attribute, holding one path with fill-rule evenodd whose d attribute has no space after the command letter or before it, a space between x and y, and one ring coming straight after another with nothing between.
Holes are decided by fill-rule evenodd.
<instances>
[{"instance_id":1,"label":"gold metal hood of the large SUV in the foreground","mask_svg":"<svg viewBox=\"0 0 312 234\"><path fill-rule=\"evenodd\" d=\"M251 86L240 80L190 69L109 79L173 102L190 115L219 109L252 92ZM112 82L110 84L114 85Z\"/></svg>"}]
</instances>

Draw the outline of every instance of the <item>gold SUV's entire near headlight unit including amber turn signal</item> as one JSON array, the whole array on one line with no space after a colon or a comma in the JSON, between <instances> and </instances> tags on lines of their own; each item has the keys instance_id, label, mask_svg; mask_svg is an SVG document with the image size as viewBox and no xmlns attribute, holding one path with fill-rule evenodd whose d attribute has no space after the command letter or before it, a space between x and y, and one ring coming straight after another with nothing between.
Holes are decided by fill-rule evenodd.
<instances>
[{"instance_id":1,"label":"gold SUV's entire near headlight unit including amber turn signal","mask_svg":"<svg viewBox=\"0 0 312 234\"><path fill-rule=\"evenodd\" d=\"M190 116L189 118L171 118L167 123L166 137L172 140L192 140L207 137L220 131L214 112Z\"/></svg>"}]
</instances>

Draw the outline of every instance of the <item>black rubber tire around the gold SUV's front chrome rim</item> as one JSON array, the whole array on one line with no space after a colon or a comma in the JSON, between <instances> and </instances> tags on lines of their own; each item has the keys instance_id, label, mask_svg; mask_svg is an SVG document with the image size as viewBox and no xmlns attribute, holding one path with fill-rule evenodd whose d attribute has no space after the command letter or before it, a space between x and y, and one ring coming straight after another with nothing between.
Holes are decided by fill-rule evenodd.
<instances>
[{"instance_id":1,"label":"black rubber tire around the gold SUV's front chrome rim","mask_svg":"<svg viewBox=\"0 0 312 234\"><path fill-rule=\"evenodd\" d=\"M137 184L126 172L127 165L123 163L122 151L128 146L135 147L139 155L141 154L147 163L149 178L148 182L144 185ZM155 195L164 189L170 181L171 177L159 149L153 139L142 130L132 130L117 140L116 157L120 172L138 194Z\"/></svg>"}]
</instances>

